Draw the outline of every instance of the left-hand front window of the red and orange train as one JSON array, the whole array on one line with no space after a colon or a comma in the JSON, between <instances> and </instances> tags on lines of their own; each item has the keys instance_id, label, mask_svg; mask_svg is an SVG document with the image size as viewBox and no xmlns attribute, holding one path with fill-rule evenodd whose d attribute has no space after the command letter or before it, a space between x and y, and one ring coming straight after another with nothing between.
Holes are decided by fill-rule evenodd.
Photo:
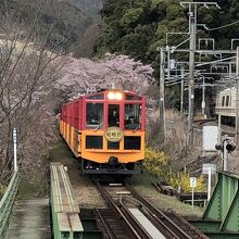
<instances>
[{"instance_id":1,"label":"left-hand front window of the red and orange train","mask_svg":"<svg viewBox=\"0 0 239 239\"><path fill-rule=\"evenodd\" d=\"M103 128L103 103L87 103L86 127Z\"/></svg>"}]
</instances>

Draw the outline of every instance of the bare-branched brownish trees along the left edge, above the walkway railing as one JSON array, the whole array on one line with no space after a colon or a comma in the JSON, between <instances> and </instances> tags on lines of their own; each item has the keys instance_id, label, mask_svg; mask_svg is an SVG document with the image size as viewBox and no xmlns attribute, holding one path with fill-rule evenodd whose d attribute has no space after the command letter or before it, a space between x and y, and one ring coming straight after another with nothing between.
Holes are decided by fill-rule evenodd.
<instances>
[{"instance_id":1,"label":"bare-branched brownish trees along the left edge, above the walkway railing","mask_svg":"<svg viewBox=\"0 0 239 239\"><path fill-rule=\"evenodd\" d=\"M47 42L55 25L49 26L45 39L33 42L36 23L34 18L25 27L8 11L0 18L0 184L7 184L12 174L13 127L18 131L18 163L25 176L34 177L33 168L46 174L42 155L54 139L58 93L53 86L61 60L47 50Z\"/></svg>"}]
</instances>

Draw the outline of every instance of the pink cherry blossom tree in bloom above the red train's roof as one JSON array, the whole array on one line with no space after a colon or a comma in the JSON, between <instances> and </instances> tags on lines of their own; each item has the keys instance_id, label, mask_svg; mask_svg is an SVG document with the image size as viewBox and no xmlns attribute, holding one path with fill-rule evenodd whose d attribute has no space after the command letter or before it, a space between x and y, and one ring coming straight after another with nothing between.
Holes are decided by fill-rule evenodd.
<instances>
[{"instance_id":1,"label":"pink cherry blossom tree in bloom above the red train's roof","mask_svg":"<svg viewBox=\"0 0 239 239\"><path fill-rule=\"evenodd\" d=\"M58 87L70 97L86 93L87 90L116 88L144 95L153 84L153 70L127 55L108 54L102 60L65 58L62 78Z\"/></svg>"}]
</instances>

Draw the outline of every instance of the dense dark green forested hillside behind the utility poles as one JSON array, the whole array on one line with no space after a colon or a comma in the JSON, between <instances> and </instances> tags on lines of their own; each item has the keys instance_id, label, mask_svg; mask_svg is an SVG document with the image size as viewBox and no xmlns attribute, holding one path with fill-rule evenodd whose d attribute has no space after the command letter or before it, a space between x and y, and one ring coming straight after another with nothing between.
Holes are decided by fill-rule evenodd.
<instances>
[{"instance_id":1,"label":"dense dark green forested hillside behind the utility poles","mask_svg":"<svg viewBox=\"0 0 239 239\"><path fill-rule=\"evenodd\" d=\"M218 27L239 20L239 1L217 2L221 10L202 4L198 8L198 24L205 24L212 29L198 26L198 37L214 38L216 49L230 49L230 38L239 38L239 22L228 27ZM188 9L183 8L177 0L105 0L101 17L103 34L96 45L96 54L118 52L131 55L152 64L158 79L160 52L156 48L166 46L167 33L188 33ZM168 35L167 45L177 46L187 38L188 35ZM189 46L186 43L184 47ZM188 61L188 54L179 56ZM166 106L179 108L179 87L167 87L165 90ZM153 93L153 89L150 93ZM159 92L154 95L159 96Z\"/></svg>"}]
</instances>

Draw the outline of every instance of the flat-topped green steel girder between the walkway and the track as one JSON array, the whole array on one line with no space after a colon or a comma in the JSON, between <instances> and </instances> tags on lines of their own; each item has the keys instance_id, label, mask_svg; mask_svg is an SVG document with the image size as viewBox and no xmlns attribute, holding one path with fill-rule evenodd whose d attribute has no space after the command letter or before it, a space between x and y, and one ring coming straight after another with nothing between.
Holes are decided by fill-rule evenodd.
<instances>
[{"instance_id":1,"label":"flat-topped green steel girder between the walkway and the track","mask_svg":"<svg viewBox=\"0 0 239 239\"><path fill-rule=\"evenodd\" d=\"M54 239L83 238L79 207L61 163L51 163L51 213Z\"/></svg>"}]
</instances>

